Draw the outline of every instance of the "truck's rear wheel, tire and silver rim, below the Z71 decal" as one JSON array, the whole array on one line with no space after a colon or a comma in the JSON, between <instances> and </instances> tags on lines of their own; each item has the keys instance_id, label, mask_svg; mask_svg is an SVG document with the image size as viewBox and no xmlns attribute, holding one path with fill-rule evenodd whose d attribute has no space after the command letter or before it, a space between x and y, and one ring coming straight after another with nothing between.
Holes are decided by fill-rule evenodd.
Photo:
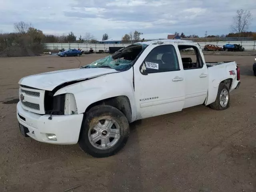
<instances>
[{"instance_id":1,"label":"truck's rear wheel, tire and silver rim, below the Z71 decal","mask_svg":"<svg viewBox=\"0 0 256 192\"><path fill-rule=\"evenodd\" d=\"M210 104L210 107L215 110L225 110L229 108L229 89L224 83L220 83L217 98L214 103Z\"/></svg>"}]
</instances>

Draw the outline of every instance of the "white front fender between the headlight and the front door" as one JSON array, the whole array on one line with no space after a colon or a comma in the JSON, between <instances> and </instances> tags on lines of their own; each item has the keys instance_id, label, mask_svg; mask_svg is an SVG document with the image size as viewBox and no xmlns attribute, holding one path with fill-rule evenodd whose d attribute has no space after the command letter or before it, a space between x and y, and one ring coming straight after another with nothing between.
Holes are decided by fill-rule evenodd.
<instances>
[{"instance_id":1,"label":"white front fender between the headlight and the front door","mask_svg":"<svg viewBox=\"0 0 256 192\"><path fill-rule=\"evenodd\" d=\"M100 100L127 96L132 108L132 118L134 118L136 107L132 76L132 70L107 74L61 88L54 96L65 93L74 94L78 114L84 113L88 106Z\"/></svg>"}]
</instances>

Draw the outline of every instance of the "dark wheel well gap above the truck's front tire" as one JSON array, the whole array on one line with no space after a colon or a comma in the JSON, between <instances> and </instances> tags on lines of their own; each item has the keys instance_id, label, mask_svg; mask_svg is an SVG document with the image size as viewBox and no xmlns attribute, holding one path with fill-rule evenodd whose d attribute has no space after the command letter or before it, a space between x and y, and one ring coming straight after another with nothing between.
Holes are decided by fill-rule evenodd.
<instances>
[{"instance_id":1,"label":"dark wheel well gap above the truck's front tire","mask_svg":"<svg viewBox=\"0 0 256 192\"><path fill-rule=\"evenodd\" d=\"M128 122L132 121L132 108L130 104L130 100L127 96L116 96L112 98L103 99L100 101L97 101L95 103L90 104L86 111L90 110L92 107L96 105L110 105L117 109L119 109L127 118Z\"/></svg>"}]
</instances>

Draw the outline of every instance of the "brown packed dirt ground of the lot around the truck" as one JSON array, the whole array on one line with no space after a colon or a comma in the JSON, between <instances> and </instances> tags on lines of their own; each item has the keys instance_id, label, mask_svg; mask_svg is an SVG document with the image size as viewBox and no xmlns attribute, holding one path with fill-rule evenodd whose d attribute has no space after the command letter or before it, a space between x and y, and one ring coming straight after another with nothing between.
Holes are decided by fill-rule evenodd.
<instances>
[{"instance_id":1,"label":"brown packed dirt ground of the lot around the truck","mask_svg":"<svg viewBox=\"0 0 256 192\"><path fill-rule=\"evenodd\" d=\"M82 65L104 54L79 57ZM77 68L75 57L0 58L0 192L255 192L256 77L254 56L206 55L235 60L241 86L228 110L206 106L147 118L130 125L115 156L93 158L79 146L24 138L18 129L18 81L41 72Z\"/></svg>"}]
</instances>

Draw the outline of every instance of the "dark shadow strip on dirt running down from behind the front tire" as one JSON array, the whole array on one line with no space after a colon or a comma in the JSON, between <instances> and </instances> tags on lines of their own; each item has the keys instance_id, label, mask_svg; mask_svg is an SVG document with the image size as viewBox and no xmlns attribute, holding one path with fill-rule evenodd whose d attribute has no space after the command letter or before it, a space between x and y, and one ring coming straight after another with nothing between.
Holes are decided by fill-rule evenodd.
<instances>
[{"instance_id":1,"label":"dark shadow strip on dirt running down from behind the front tire","mask_svg":"<svg viewBox=\"0 0 256 192\"><path fill-rule=\"evenodd\" d=\"M114 174L107 184L109 191L143 191L142 156L138 130L142 120L130 124L130 136L126 146L112 156Z\"/></svg>"}]
</instances>

